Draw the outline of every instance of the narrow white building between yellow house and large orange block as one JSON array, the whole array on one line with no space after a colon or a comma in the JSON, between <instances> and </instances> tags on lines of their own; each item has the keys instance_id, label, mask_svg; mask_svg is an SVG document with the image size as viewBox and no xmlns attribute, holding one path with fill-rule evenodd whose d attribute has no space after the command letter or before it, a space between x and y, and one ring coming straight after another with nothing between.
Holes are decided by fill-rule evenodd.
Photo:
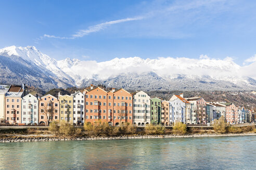
<instances>
[{"instance_id":1,"label":"narrow white building between yellow house and large orange block","mask_svg":"<svg viewBox=\"0 0 256 170\"><path fill-rule=\"evenodd\" d=\"M84 94L78 91L71 96L73 96L73 123L84 123Z\"/></svg>"}]
</instances>

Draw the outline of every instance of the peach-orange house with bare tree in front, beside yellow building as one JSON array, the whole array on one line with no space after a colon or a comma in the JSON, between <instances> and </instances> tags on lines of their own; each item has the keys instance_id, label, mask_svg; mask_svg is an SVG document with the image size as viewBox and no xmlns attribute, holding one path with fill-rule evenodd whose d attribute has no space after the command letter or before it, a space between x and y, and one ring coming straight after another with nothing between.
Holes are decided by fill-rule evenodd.
<instances>
[{"instance_id":1,"label":"peach-orange house with bare tree in front, beside yellow building","mask_svg":"<svg viewBox=\"0 0 256 170\"><path fill-rule=\"evenodd\" d=\"M47 94L39 100L39 124L48 125L48 122L59 120L59 100Z\"/></svg>"}]
</instances>

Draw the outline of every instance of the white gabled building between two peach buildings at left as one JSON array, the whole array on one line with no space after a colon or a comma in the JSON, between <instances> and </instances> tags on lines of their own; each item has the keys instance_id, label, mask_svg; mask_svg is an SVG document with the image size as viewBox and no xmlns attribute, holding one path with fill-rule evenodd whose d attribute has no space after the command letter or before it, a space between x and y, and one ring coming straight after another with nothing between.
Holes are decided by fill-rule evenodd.
<instances>
[{"instance_id":1,"label":"white gabled building between two peach buildings at left","mask_svg":"<svg viewBox=\"0 0 256 170\"><path fill-rule=\"evenodd\" d=\"M38 98L32 94L27 94L21 100L21 123L38 124L39 102Z\"/></svg>"}]
</instances>

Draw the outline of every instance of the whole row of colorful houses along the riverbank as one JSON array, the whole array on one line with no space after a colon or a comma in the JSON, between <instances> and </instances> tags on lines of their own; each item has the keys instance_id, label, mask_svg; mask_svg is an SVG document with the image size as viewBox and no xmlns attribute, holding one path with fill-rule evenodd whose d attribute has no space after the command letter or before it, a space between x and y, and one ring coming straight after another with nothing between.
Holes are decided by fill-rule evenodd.
<instances>
[{"instance_id":1,"label":"whole row of colorful houses along the riverbank","mask_svg":"<svg viewBox=\"0 0 256 170\"><path fill-rule=\"evenodd\" d=\"M169 101L151 98L144 91L106 91L91 85L71 95L34 96L24 84L0 89L0 119L8 124L41 124L65 120L73 124L106 122L119 125L208 124L225 117L230 123L255 122L254 112L233 103L206 102L202 97L173 95Z\"/></svg>"}]
</instances>

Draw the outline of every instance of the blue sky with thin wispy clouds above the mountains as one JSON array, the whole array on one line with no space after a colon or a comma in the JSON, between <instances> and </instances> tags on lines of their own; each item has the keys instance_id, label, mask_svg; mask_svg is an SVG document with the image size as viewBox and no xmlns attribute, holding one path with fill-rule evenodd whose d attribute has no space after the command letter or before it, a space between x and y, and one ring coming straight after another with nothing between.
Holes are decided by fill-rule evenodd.
<instances>
[{"instance_id":1,"label":"blue sky with thin wispy clouds above the mountains","mask_svg":"<svg viewBox=\"0 0 256 170\"><path fill-rule=\"evenodd\" d=\"M0 1L0 48L57 60L256 54L256 1Z\"/></svg>"}]
</instances>

